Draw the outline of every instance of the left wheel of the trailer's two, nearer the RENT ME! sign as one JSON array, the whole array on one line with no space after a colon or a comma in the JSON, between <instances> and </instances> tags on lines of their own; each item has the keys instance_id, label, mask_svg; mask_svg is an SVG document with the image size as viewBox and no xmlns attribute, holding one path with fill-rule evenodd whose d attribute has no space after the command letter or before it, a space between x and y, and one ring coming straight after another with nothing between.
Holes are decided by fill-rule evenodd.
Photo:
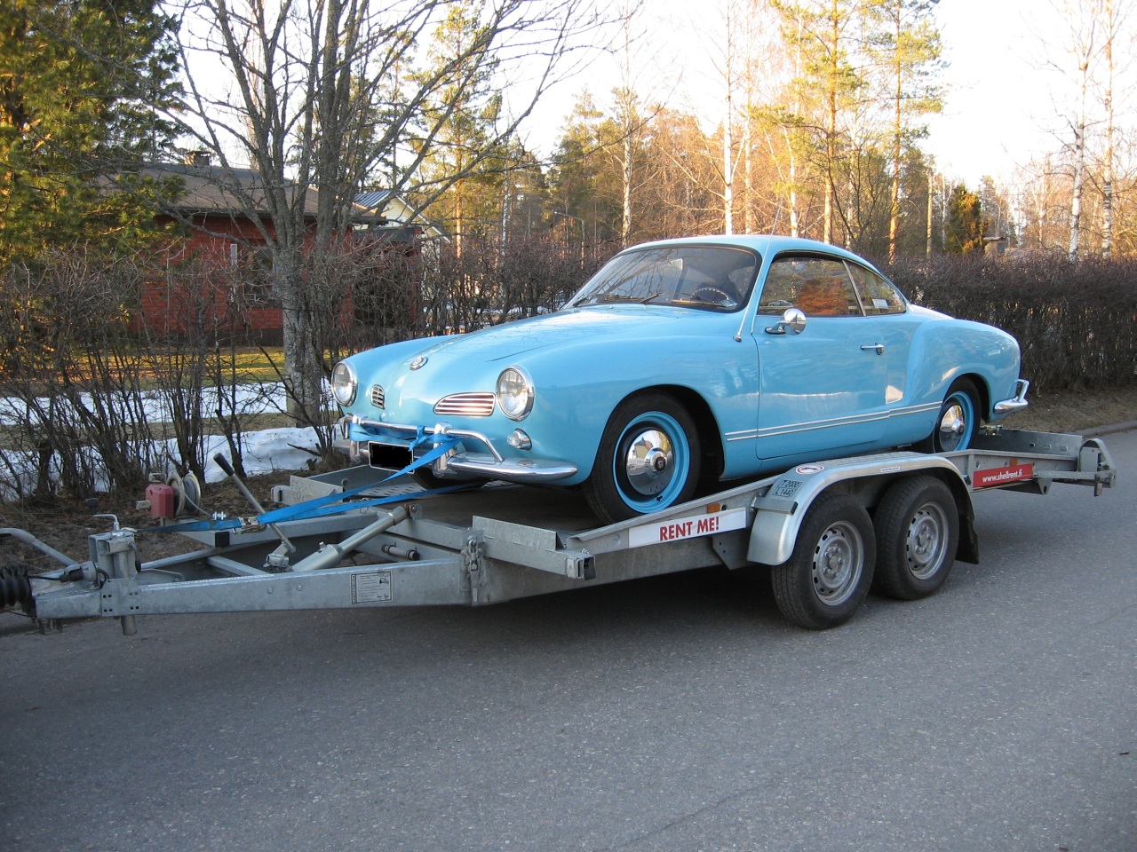
<instances>
[{"instance_id":1,"label":"left wheel of the trailer's two, nearer the RENT ME! sign","mask_svg":"<svg viewBox=\"0 0 1137 852\"><path fill-rule=\"evenodd\" d=\"M864 507L847 494L822 494L806 512L789 560L773 567L778 609L813 630L844 624L869 593L875 558Z\"/></svg>"}]
</instances>

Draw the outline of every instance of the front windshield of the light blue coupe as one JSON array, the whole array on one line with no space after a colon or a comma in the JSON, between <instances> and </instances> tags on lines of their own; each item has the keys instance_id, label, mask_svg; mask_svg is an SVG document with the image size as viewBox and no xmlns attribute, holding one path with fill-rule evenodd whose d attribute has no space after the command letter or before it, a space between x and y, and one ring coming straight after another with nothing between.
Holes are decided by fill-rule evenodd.
<instances>
[{"instance_id":1,"label":"front windshield of the light blue coupe","mask_svg":"<svg viewBox=\"0 0 1137 852\"><path fill-rule=\"evenodd\" d=\"M669 245L617 254L565 307L613 302L739 310L761 260L747 249Z\"/></svg>"}]
</instances>

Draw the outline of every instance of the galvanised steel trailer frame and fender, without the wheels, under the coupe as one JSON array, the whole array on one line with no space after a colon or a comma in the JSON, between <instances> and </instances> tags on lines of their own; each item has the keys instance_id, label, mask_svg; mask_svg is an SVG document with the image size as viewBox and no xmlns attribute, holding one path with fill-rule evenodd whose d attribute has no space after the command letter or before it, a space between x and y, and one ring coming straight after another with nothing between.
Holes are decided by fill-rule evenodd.
<instances>
[{"instance_id":1,"label":"galvanised steel trailer frame and fender, without the wheels, under the coupe","mask_svg":"<svg viewBox=\"0 0 1137 852\"><path fill-rule=\"evenodd\" d=\"M423 495L357 467L274 488L275 501L293 508L291 519L269 524L280 515L267 512L238 528L204 529L173 521L171 529L182 527L200 545L191 553L139 565L134 531L91 536L89 561L30 577L24 604L52 623L117 617L130 633L134 618L149 613L483 605L711 566L785 573L779 566L800 559L798 536L815 503L844 501L874 513L898 482L918 479L947 486L958 512L953 557L977 561L973 492L1045 494L1054 483L1072 483L1099 494L1115 475L1101 441L990 428L966 451L822 459L600 526L572 490L492 483ZM306 507L351 492L354 502L338 513L304 517ZM375 500L388 502L367 504ZM794 620L828 626L803 618Z\"/></svg>"}]
</instances>

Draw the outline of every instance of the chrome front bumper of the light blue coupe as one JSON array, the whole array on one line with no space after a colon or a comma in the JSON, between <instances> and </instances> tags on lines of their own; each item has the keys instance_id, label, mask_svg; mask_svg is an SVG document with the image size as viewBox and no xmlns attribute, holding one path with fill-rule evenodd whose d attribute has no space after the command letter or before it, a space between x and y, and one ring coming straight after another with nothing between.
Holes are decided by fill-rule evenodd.
<instances>
[{"instance_id":1,"label":"chrome front bumper of the light blue coupe","mask_svg":"<svg viewBox=\"0 0 1137 852\"><path fill-rule=\"evenodd\" d=\"M339 437L333 446L352 463L383 469L401 470L441 441L459 438L460 443L430 463L428 469L435 476L455 481L540 483L566 479L576 474L576 466L567 461L503 456L482 433L458 429L448 423L406 426L348 415L340 418L337 431Z\"/></svg>"}]
</instances>

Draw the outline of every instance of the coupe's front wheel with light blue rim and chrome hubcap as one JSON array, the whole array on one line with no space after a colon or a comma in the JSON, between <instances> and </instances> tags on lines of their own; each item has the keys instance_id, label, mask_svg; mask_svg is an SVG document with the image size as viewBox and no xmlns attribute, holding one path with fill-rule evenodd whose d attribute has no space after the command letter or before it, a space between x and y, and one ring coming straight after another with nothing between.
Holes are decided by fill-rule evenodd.
<instances>
[{"instance_id":1,"label":"coupe's front wheel with light blue rim and chrome hubcap","mask_svg":"<svg viewBox=\"0 0 1137 852\"><path fill-rule=\"evenodd\" d=\"M646 393L608 418L584 496L598 518L614 524L690 500L698 478L691 416L673 398Z\"/></svg>"}]
</instances>

